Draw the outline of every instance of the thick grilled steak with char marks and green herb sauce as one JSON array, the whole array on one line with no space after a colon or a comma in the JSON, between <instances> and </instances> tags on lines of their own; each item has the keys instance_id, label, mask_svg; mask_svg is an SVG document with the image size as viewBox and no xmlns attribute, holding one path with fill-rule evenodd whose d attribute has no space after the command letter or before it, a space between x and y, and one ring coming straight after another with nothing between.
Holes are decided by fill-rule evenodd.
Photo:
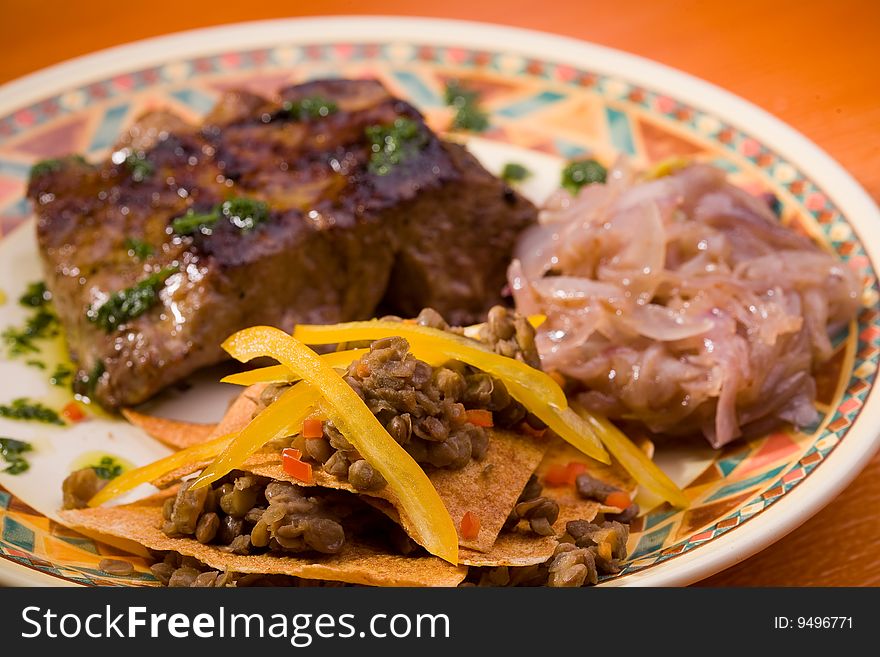
<instances>
[{"instance_id":1,"label":"thick grilled steak with char marks and green herb sauce","mask_svg":"<svg viewBox=\"0 0 880 657\"><path fill-rule=\"evenodd\" d=\"M254 324L499 300L535 208L372 81L225 94L203 125L154 112L111 157L35 167L46 282L79 381L107 407L224 358Z\"/></svg>"}]
</instances>

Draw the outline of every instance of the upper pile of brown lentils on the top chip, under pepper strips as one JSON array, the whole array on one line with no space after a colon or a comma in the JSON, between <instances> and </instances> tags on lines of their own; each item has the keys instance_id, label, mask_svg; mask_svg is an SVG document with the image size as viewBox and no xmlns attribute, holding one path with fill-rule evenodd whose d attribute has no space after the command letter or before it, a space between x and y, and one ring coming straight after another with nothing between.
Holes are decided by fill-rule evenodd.
<instances>
[{"instance_id":1,"label":"upper pile of brown lentils on the top chip, under pepper strips","mask_svg":"<svg viewBox=\"0 0 880 657\"><path fill-rule=\"evenodd\" d=\"M416 322L461 332L431 309L423 310ZM501 306L489 312L481 330L482 341L497 353L539 367L534 338L534 329L524 317ZM409 343L400 337L376 340L369 349L347 368L345 381L418 463L456 469L472 459L482 460L489 445L484 426L489 424L488 418L491 426L500 428L514 428L521 422L535 429L544 426L510 396L501 381L473 367L458 361L432 367L413 356ZM268 386L262 394L262 406L274 402L286 388L283 384ZM491 415L475 416L472 411L488 411ZM276 446L299 449L304 459L347 479L356 490L385 486L382 475L362 459L329 420L323 422L319 438L297 436L292 442L279 441Z\"/></svg>"}]
</instances>

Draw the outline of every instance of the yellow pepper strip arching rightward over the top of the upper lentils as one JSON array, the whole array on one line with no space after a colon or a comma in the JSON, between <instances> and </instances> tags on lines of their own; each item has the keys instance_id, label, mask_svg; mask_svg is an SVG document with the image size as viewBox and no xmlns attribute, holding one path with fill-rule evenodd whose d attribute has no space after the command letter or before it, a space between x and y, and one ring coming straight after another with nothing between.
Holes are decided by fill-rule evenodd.
<instances>
[{"instance_id":1,"label":"yellow pepper strip arching rightward over the top of the upper lentils","mask_svg":"<svg viewBox=\"0 0 880 657\"><path fill-rule=\"evenodd\" d=\"M568 407L568 400L557 383L541 370L529 367L513 358L507 358L490 351L487 347L469 338L447 333L439 329L373 320L369 322L348 322L318 326L300 324L293 336L305 344L334 344L357 340L378 340L391 336L406 338L411 346L426 346L441 352L447 359L460 360L468 365L498 377L505 384L513 382L533 391L545 404L560 409Z\"/></svg>"}]
</instances>

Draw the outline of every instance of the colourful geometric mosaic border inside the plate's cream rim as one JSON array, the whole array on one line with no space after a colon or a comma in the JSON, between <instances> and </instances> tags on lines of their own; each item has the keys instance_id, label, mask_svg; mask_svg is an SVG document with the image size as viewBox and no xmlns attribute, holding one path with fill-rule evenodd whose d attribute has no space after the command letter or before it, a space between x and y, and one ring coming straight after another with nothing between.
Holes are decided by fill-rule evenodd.
<instances>
[{"instance_id":1,"label":"colourful geometric mosaic border inside the plate's cream rim","mask_svg":"<svg viewBox=\"0 0 880 657\"><path fill-rule=\"evenodd\" d=\"M764 190L772 189L783 206L783 221L820 237L863 272L865 310L857 328L850 328L849 338L838 341L836 356L829 364L834 385L827 398L820 395L823 421L807 433L777 432L724 450L687 487L694 507L676 513L663 505L634 523L632 558L622 574L684 554L756 517L806 480L845 437L872 388L880 356L877 278L846 218L794 164L711 113L620 78L568 65L459 47L339 43L202 56L93 82L0 117L0 236L30 214L21 199L28 162L7 157L4 142L20 146L30 133L39 133L42 126L60 117L93 105L107 106L85 145L94 154L112 143L129 109L124 101L134 94L172 88L170 96L196 116L210 108L213 97L191 82L219 82L225 76L277 86L291 71L314 77L357 65L364 66L360 73L378 74L393 90L412 99L429 121L434 119L438 125L442 125L446 111L438 84L450 77L465 78L487 98L492 126L485 137L562 158L591 151L610 157L613 151L620 151L646 162L685 148L724 166L734 177L742 175L753 183L760 181ZM554 114L575 91L579 98L592 98L598 107L601 137L578 138L574 125L579 118L577 108L568 115L562 112L561 117ZM116 100L123 102L114 103ZM535 124L536 115L551 121L549 132L561 128L563 137L532 130L532 125L526 124ZM33 155L57 154L47 148L51 150L52 144L45 140L31 148L31 159ZM852 372L851 376L840 380L847 372ZM723 512L719 511L722 508ZM716 520L719 515L721 519ZM7 559L83 584L143 584L150 579L145 563L137 560L138 570L131 577L114 578L97 570L95 557L119 553L65 530L2 489L0 518L0 556ZM701 522L701 518L711 520ZM52 547L47 547L50 544ZM58 552L61 544L63 554ZM47 554L55 558L44 558Z\"/></svg>"}]
</instances>

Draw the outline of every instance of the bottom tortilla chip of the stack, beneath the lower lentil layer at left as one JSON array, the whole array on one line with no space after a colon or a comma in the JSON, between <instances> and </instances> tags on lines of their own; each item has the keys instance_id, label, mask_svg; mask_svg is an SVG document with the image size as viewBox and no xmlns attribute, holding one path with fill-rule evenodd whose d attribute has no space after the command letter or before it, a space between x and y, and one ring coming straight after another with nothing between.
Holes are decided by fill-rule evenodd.
<instances>
[{"instance_id":1,"label":"bottom tortilla chip of the stack, beneath the lower lentil layer at left","mask_svg":"<svg viewBox=\"0 0 880 657\"><path fill-rule=\"evenodd\" d=\"M192 538L170 538L161 525L162 504L172 494L166 491L135 504L61 511L60 515L73 529L134 540L152 550L179 552L210 568L236 573L291 575L366 586L457 586L467 574L466 567L436 557L387 554L354 540L346 543L339 554L302 558L230 554Z\"/></svg>"}]
</instances>

